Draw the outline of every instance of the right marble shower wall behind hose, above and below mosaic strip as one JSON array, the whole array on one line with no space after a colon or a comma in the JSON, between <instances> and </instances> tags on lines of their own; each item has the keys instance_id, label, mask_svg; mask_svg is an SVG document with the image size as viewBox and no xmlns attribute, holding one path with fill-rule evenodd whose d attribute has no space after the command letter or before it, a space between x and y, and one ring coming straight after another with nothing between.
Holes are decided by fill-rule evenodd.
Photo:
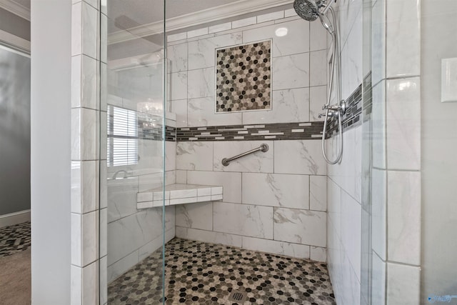
<instances>
[{"instance_id":1,"label":"right marble shower wall behind hose, above and below mosaic strip","mask_svg":"<svg viewBox=\"0 0 457 305\"><path fill-rule=\"evenodd\" d=\"M340 33L341 98L348 99L363 79L362 1L338 2L334 8ZM339 145L335 135L326 141L329 159L336 159ZM359 121L343 129L341 162L327 165L327 261L337 304L361 304L361 164Z\"/></svg>"}]
</instances>

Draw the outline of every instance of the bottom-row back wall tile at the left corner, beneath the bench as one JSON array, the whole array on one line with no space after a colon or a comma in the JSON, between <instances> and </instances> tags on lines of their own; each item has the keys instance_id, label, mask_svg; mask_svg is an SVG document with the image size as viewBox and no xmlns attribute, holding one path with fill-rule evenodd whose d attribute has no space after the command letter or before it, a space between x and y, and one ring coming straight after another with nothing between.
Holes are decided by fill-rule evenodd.
<instances>
[{"instance_id":1,"label":"bottom-row back wall tile at the left corner, beneath the bench","mask_svg":"<svg viewBox=\"0 0 457 305\"><path fill-rule=\"evenodd\" d=\"M189 229L181 226L176 226L176 237L179 237L180 239L192 239L195 241L204 241L214 244L226 244L228 246L236 246L238 248L241 248L242 245L241 236L238 235Z\"/></svg>"}]
</instances>

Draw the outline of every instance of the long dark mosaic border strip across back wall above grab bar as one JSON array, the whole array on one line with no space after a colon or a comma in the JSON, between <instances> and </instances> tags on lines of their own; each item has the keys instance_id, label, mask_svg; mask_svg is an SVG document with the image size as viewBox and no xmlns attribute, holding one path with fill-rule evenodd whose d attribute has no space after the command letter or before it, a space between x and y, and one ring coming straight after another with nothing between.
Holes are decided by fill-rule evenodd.
<instances>
[{"instance_id":1,"label":"long dark mosaic border strip across back wall above grab bar","mask_svg":"<svg viewBox=\"0 0 457 305\"><path fill-rule=\"evenodd\" d=\"M253 141L322 139L323 121L230 126L181 127L177 141Z\"/></svg>"}]
</instances>

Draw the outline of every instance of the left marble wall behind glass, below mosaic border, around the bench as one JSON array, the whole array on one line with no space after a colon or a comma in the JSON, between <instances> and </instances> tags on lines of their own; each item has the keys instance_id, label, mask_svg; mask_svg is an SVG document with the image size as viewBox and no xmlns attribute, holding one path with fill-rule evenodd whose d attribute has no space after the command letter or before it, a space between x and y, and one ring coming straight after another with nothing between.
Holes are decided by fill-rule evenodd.
<instances>
[{"instance_id":1,"label":"left marble wall behind glass, below mosaic border, around the bench","mask_svg":"<svg viewBox=\"0 0 457 305\"><path fill-rule=\"evenodd\" d=\"M128 101L124 101L122 106L132 108ZM168 119L167 124L174 127L176 121ZM159 249L162 245L162 234L165 234L166 241L175 236L174 206L165 209L165 231L162 229L161 208L136 209L136 194L139 191L176 182L176 142L165 141L165 151L163 164L162 141L139 139L137 164L106 168L107 216L104 226L107 232L107 283L114 281L131 266ZM116 179L113 179L115 175Z\"/></svg>"}]
</instances>

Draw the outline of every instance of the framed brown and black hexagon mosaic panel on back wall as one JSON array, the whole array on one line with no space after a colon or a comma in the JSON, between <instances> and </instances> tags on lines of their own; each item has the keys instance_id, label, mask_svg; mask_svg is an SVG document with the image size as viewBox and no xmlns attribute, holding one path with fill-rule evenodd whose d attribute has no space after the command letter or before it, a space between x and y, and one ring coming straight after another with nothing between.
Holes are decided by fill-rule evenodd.
<instances>
[{"instance_id":1,"label":"framed brown and black hexagon mosaic panel on back wall","mask_svg":"<svg viewBox=\"0 0 457 305\"><path fill-rule=\"evenodd\" d=\"M216 49L216 113L271 109L271 40Z\"/></svg>"}]
</instances>

